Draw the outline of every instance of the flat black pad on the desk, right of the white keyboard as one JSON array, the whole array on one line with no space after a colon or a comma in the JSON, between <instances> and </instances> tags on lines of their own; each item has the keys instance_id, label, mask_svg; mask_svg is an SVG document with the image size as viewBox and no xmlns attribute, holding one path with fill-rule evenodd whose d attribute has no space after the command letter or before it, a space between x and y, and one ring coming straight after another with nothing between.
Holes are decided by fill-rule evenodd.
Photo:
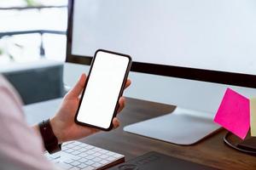
<instances>
[{"instance_id":1,"label":"flat black pad on the desk, right of the white keyboard","mask_svg":"<svg viewBox=\"0 0 256 170\"><path fill-rule=\"evenodd\" d=\"M131 161L126 161L111 170L218 170L191 161L184 161L172 156L166 156L158 152L148 152L143 156L138 156Z\"/></svg>"}]
</instances>

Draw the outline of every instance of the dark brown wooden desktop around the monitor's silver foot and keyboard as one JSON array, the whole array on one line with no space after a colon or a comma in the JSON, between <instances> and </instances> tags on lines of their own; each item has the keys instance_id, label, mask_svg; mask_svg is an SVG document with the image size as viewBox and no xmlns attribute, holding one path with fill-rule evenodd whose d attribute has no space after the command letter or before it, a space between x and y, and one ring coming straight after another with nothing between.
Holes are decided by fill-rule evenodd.
<instances>
[{"instance_id":1,"label":"dark brown wooden desktop around the monitor's silver foot and keyboard","mask_svg":"<svg viewBox=\"0 0 256 170\"><path fill-rule=\"evenodd\" d=\"M226 133L225 130L221 130L200 143L191 146L169 144L159 140L125 133L123 131L125 125L164 115L175 109L172 105L163 105L139 99L126 100L125 110L119 115L121 127L107 133L96 133L95 135L81 139L81 141L107 150L117 151L124 154L126 160L143 155L150 150L155 150L169 156L198 162L210 167L239 170L256 169L256 156L242 154L224 144L222 138ZM56 105L59 104L59 101L54 101L53 103Z\"/></svg>"}]
</instances>

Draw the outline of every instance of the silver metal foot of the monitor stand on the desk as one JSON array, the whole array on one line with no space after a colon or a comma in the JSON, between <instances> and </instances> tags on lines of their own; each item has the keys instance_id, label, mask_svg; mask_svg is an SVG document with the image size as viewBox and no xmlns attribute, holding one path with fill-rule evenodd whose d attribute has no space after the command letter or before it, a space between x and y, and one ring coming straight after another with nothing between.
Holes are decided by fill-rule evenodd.
<instances>
[{"instance_id":1,"label":"silver metal foot of the monitor stand on the desk","mask_svg":"<svg viewBox=\"0 0 256 170\"><path fill-rule=\"evenodd\" d=\"M128 125L124 130L172 144L189 145L199 142L220 128L212 120L211 113L177 107L172 113Z\"/></svg>"}]
</instances>

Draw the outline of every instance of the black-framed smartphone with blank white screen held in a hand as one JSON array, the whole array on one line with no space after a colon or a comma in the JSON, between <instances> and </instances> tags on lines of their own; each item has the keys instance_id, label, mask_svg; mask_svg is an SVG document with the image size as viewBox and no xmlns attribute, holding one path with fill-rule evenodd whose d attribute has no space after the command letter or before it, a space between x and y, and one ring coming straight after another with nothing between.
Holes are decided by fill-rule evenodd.
<instances>
[{"instance_id":1,"label":"black-framed smartphone with blank white screen held in a hand","mask_svg":"<svg viewBox=\"0 0 256 170\"><path fill-rule=\"evenodd\" d=\"M98 49L80 99L75 122L108 131L131 69L131 57Z\"/></svg>"}]
</instances>

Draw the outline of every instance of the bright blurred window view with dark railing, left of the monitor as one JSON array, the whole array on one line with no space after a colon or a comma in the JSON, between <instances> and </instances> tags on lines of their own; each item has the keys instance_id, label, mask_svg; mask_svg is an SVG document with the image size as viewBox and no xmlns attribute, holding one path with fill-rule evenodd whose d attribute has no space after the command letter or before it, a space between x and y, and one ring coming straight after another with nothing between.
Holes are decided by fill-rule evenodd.
<instances>
[{"instance_id":1,"label":"bright blurred window view with dark railing, left of the monitor","mask_svg":"<svg viewBox=\"0 0 256 170\"><path fill-rule=\"evenodd\" d=\"M0 65L64 61L67 0L0 0Z\"/></svg>"}]
</instances>

